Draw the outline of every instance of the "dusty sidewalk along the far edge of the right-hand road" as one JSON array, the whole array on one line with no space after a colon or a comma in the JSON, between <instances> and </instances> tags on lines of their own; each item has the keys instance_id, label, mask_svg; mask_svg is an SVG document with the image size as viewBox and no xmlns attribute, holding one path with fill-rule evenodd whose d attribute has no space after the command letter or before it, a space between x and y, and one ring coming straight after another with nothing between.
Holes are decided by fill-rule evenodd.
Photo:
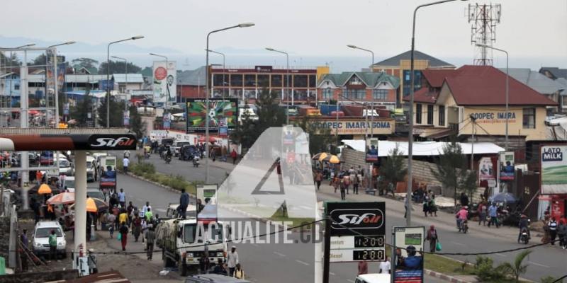
<instances>
[{"instance_id":1,"label":"dusty sidewalk along the far edge of the right-hand road","mask_svg":"<svg viewBox=\"0 0 567 283\"><path fill-rule=\"evenodd\" d=\"M393 200L389 197L381 197L381 196L374 196L374 195L367 195L366 192L363 190L359 190L359 195L353 195L352 190L350 190L350 194L347 195L347 201L354 201L354 202L386 202L386 209L388 211L397 212L399 214L405 213L404 204L402 201ZM322 182L320 190L318 190L318 194L322 195L332 195L334 197L339 198L340 192L337 190L335 193L335 188L329 185L329 181L325 180ZM412 221L418 221L420 223L433 223L436 226L439 224L443 224L444 226L449 226L449 229L456 229L456 222L455 216L453 214L437 211L436 216L427 216L425 217L422 210L422 204L415 204L412 203ZM468 229L471 233L482 233L487 234L490 236L498 236L504 238L516 238L518 235L518 230L515 227L509 226L500 226L500 228L496 228L495 226L478 226L478 222L476 221L469 221ZM539 243L539 238L532 235L532 241L534 243Z\"/></svg>"}]
</instances>

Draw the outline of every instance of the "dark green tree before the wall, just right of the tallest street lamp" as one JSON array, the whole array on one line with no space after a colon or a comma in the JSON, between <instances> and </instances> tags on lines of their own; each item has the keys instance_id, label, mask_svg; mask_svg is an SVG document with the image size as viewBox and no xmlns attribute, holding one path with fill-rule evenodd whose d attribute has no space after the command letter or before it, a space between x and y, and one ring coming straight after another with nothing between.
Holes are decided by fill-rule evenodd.
<instances>
[{"instance_id":1,"label":"dark green tree before the wall, just right of the tallest street lamp","mask_svg":"<svg viewBox=\"0 0 567 283\"><path fill-rule=\"evenodd\" d=\"M436 165L437 171L430 168L431 173L444 187L454 190L455 206L458 192L472 192L476 187L476 173L467 171L467 158L454 138L443 146Z\"/></svg>"}]
</instances>

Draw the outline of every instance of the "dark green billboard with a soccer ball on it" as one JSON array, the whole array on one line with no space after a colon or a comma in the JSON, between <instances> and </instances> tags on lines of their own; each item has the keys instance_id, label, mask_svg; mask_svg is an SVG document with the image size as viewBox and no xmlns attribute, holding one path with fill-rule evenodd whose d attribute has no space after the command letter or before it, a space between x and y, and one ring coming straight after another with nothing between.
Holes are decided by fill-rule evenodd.
<instances>
[{"instance_id":1,"label":"dark green billboard with a soccer ball on it","mask_svg":"<svg viewBox=\"0 0 567 283\"><path fill-rule=\"evenodd\" d=\"M230 132L237 125L237 98L210 98L208 112L205 98L187 99L186 106L187 133L205 132L206 115L209 117L209 132L218 132L220 127L227 127Z\"/></svg>"}]
</instances>

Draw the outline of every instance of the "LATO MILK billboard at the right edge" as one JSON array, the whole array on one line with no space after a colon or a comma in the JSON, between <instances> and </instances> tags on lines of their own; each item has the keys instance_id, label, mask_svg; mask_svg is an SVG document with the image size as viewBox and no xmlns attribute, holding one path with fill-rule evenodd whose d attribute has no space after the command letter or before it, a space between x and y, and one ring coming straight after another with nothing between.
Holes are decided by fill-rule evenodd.
<instances>
[{"instance_id":1,"label":"LATO MILK billboard at the right edge","mask_svg":"<svg viewBox=\"0 0 567 283\"><path fill-rule=\"evenodd\" d=\"M567 145L541 146L541 194L567 194Z\"/></svg>"}]
</instances>

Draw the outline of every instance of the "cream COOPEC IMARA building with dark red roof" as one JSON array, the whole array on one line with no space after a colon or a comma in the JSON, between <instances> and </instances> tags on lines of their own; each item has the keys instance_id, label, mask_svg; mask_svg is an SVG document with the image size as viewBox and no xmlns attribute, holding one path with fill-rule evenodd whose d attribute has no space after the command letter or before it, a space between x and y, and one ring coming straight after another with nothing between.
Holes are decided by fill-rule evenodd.
<instances>
[{"instance_id":1,"label":"cream COOPEC IMARA building with dark red roof","mask_svg":"<svg viewBox=\"0 0 567 283\"><path fill-rule=\"evenodd\" d=\"M557 103L510 77L506 112L503 71L463 66L423 74L425 87L414 96L415 136L442 139L456 133L462 141L489 141L505 147L507 123L508 145L516 151L518 161L524 160L532 143L546 141L546 108Z\"/></svg>"}]
</instances>

